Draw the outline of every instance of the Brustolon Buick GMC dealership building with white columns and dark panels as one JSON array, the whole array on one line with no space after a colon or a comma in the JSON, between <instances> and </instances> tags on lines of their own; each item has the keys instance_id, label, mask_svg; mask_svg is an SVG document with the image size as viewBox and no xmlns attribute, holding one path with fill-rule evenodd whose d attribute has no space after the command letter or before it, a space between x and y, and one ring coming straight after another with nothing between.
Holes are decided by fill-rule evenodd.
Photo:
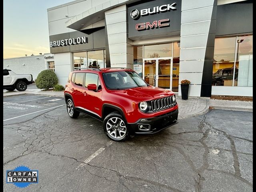
<instances>
[{"instance_id":1,"label":"Brustolon Buick GMC dealership building with white columns and dark panels","mask_svg":"<svg viewBox=\"0 0 256 192\"><path fill-rule=\"evenodd\" d=\"M131 68L189 96L252 96L252 0L76 0L48 8L59 83L79 68Z\"/></svg>"}]
</instances>

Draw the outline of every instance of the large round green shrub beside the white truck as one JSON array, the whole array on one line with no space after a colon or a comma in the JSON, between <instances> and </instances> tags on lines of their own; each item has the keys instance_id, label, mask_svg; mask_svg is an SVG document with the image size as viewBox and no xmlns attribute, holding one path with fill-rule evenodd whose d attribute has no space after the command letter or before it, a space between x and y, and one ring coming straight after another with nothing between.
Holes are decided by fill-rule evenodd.
<instances>
[{"instance_id":1,"label":"large round green shrub beside the white truck","mask_svg":"<svg viewBox=\"0 0 256 192\"><path fill-rule=\"evenodd\" d=\"M41 71L36 78L36 87L48 90L58 83L58 78L52 70Z\"/></svg>"}]
</instances>

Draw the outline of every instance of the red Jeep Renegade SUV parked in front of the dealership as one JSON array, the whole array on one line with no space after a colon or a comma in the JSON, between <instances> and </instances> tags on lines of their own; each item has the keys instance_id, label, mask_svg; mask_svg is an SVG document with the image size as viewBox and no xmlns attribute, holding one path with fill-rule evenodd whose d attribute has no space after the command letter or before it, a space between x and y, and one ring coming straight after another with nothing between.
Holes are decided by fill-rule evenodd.
<instances>
[{"instance_id":1,"label":"red Jeep Renegade SUV parked in front of the dealership","mask_svg":"<svg viewBox=\"0 0 256 192\"><path fill-rule=\"evenodd\" d=\"M178 123L174 92L150 86L128 68L74 70L64 95L71 118L82 112L102 121L105 134L114 141Z\"/></svg>"}]
</instances>

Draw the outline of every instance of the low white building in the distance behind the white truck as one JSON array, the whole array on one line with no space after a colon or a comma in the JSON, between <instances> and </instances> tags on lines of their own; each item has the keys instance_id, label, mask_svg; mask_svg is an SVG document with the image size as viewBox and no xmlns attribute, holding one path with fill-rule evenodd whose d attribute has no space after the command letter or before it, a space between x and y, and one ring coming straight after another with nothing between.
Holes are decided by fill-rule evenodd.
<instances>
[{"instance_id":1,"label":"low white building in the distance behind the white truck","mask_svg":"<svg viewBox=\"0 0 256 192\"><path fill-rule=\"evenodd\" d=\"M3 69L10 69L20 74L32 74L35 80L42 70L51 69L55 72L54 54L46 53L42 55L6 58L3 62Z\"/></svg>"}]
</instances>

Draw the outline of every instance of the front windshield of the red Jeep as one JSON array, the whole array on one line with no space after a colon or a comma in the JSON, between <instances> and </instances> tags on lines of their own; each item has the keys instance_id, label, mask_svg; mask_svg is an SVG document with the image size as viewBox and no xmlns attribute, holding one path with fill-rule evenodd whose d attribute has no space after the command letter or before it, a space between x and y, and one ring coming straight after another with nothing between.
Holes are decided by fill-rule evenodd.
<instances>
[{"instance_id":1,"label":"front windshield of the red Jeep","mask_svg":"<svg viewBox=\"0 0 256 192\"><path fill-rule=\"evenodd\" d=\"M109 90L123 90L135 87L146 87L148 84L133 71L117 71L102 74Z\"/></svg>"}]
</instances>

